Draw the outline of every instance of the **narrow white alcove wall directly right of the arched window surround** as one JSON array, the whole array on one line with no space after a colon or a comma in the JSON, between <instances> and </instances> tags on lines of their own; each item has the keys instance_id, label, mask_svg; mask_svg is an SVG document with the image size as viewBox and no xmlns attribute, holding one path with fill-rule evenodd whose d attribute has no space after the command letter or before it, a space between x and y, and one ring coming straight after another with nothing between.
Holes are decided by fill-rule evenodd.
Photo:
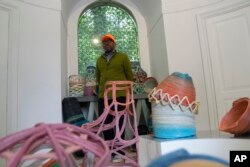
<instances>
[{"instance_id":1,"label":"narrow white alcove wall directly right of the arched window surround","mask_svg":"<svg viewBox=\"0 0 250 167\"><path fill-rule=\"evenodd\" d=\"M142 0L140 6L148 27L151 74L161 82L169 75L162 3L160 0Z\"/></svg>"}]
</instances>

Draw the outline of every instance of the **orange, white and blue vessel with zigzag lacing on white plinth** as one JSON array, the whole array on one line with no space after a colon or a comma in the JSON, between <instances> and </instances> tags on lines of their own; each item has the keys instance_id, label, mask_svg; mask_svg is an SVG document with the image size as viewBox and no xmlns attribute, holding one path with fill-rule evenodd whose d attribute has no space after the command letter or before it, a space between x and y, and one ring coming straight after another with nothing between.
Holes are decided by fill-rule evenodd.
<instances>
[{"instance_id":1,"label":"orange, white and blue vessel with zigzag lacing on white plinth","mask_svg":"<svg viewBox=\"0 0 250 167\"><path fill-rule=\"evenodd\" d=\"M195 88L188 74L174 72L149 93L154 137L182 138L196 135L198 111Z\"/></svg>"}]
</instances>

